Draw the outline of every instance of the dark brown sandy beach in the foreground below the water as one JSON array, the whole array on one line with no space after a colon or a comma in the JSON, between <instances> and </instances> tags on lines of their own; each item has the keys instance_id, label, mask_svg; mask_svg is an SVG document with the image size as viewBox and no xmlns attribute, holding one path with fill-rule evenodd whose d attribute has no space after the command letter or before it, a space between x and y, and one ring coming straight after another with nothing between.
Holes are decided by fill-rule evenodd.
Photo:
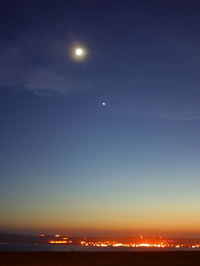
<instances>
[{"instance_id":1,"label":"dark brown sandy beach in the foreground below the water","mask_svg":"<svg viewBox=\"0 0 200 266\"><path fill-rule=\"evenodd\" d=\"M0 251L0 266L155 265L200 266L200 251L23 252Z\"/></svg>"}]
</instances>

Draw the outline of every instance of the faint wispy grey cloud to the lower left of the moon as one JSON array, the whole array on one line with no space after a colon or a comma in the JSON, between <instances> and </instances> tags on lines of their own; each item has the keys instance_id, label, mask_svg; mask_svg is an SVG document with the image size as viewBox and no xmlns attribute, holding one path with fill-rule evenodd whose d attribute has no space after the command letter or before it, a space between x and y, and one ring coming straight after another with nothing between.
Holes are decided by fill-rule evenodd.
<instances>
[{"instance_id":1,"label":"faint wispy grey cloud to the lower left of the moon","mask_svg":"<svg viewBox=\"0 0 200 266\"><path fill-rule=\"evenodd\" d=\"M5 76L1 78L2 89L29 90L38 95L54 96L93 89L82 80L74 82L71 78L48 69L21 70L21 73L14 72Z\"/></svg>"}]
</instances>

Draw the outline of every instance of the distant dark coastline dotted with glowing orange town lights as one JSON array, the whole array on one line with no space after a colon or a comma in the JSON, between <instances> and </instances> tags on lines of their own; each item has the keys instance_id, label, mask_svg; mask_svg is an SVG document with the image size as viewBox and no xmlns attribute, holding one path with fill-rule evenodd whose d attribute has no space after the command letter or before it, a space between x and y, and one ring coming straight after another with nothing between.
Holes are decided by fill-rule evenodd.
<instances>
[{"instance_id":1,"label":"distant dark coastline dotted with glowing orange town lights","mask_svg":"<svg viewBox=\"0 0 200 266\"><path fill-rule=\"evenodd\" d=\"M1 244L45 244L69 246L144 246L144 247L199 247L200 239L169 238L161 236L63 236L63 235L20 235L0 233Z\"/></svg>"}]
</instances>

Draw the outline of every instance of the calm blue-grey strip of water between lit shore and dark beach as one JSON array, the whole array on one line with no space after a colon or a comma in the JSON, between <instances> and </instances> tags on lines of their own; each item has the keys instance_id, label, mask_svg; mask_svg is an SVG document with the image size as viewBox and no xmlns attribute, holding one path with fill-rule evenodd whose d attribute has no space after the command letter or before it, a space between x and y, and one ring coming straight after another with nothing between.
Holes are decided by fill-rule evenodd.
<instances>
[{"instance_id":1,"label":"calm blue-grey strip of water between lit shore and dark beach","mask_svg":"<svg viewBox=\"0 0 200 266\"><path fill-rule=\"evenodd\" d=\"M172 250L200 250L200 248L157 248L157 247L86 247L66 245L27 245L0 244L0 251L172 251Z\"/></svg>"}]
</instances>

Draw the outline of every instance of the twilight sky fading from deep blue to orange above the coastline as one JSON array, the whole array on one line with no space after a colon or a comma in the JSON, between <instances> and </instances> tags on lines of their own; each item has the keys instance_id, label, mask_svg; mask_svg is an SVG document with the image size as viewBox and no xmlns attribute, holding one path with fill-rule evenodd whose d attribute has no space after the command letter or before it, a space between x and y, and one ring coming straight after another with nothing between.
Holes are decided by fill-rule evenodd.
<instances>
[{"instance_id":1,"label":"twilight sky fading from deep blue to orange above the coastline","mask_svg":"<svg viewBox=\"0 0 200 266\"><path fill-rule=\"evenodd\" d=\"M1 5L0 231L200 237L199 1Z\"/></svg>"}]
</instances>

